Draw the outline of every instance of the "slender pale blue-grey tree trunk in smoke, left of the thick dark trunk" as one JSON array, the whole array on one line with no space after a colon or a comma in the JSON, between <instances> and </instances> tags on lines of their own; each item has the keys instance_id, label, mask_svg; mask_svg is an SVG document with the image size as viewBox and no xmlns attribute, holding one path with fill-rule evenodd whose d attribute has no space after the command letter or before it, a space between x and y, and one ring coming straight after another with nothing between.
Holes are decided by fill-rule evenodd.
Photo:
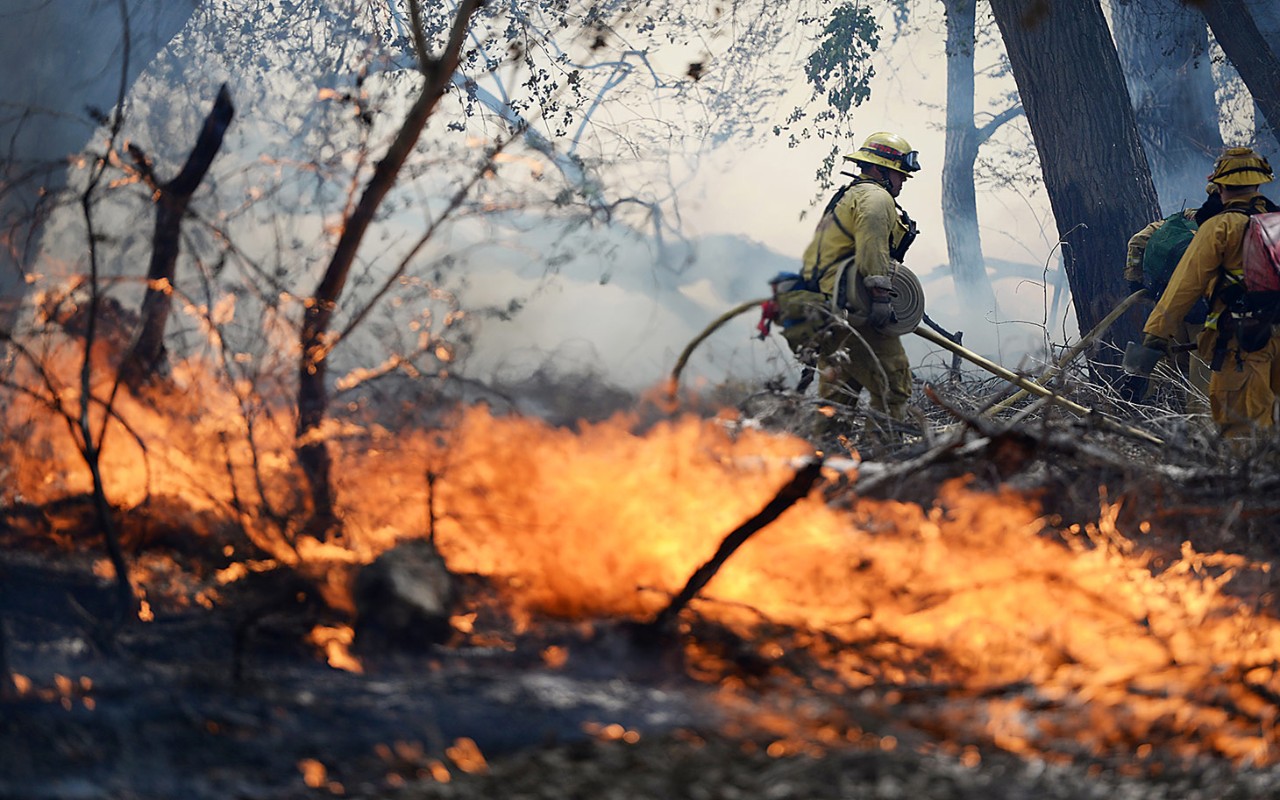
<instances>
[{"instance_id":1,"label":"slender pale blue-grey tree trunk in smoke, left of the thick dark trunk","mask_svg":"<svg viewBox=\"0 0 1280 800\"><path fill-rule=\"evenodd\" d=\"M942 161L942 229L961 307L996 310L978 232L973 165L982 143L973 122L975 0L947 0L947 132Z\"/></svg>"}]
</instances>

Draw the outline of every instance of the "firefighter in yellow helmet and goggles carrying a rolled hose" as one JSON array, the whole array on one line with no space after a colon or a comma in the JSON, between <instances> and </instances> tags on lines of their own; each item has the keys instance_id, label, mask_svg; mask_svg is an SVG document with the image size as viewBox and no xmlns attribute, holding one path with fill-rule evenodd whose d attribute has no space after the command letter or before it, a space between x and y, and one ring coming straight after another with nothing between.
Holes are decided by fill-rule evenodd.
<instances>
[{"instance_id":1,"label":"firefighter in yellow helmet and goggles carrying a rolled hose","mask_svg":"<svg viewBox=\"0 0 1280 800\"><path fill-rule=\"evenodd\" d=\"M920 165L906 140L893 133L873 133L845 160L856 164L859 174L818 221L801 269L820 289L820 298L808 301L808 314L818 321L810 339L818 397L855 407L865 388L872 408L901 420L911 394L911 366L901 339L883 328L892 321L890 275L915 238L914 223L895 198ZM860 288L870 301L865 321L849 324L846 311ZM813 307L819 300L824 307ZM819 433L826 433L823 428Z\"/></svg>"}]
</instances>

